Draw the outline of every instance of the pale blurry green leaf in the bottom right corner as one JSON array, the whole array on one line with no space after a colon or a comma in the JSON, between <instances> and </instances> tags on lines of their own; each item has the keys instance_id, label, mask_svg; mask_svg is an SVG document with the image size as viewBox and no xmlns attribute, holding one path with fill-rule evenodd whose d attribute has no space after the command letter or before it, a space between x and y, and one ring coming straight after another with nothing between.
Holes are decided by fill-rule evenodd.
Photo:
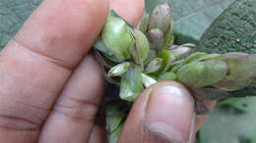
<instances>
[{"instance_id":1,"label":"pale blurry green leaf in the bottom right corner","mask_svg":"<svg viewBox=\"0 0 256 143\"><path fill-rule=\"evenodd\" d=\"M200 143L256 143L256 97L221 102L200 130Z\"/></svg>"}]
</instances>

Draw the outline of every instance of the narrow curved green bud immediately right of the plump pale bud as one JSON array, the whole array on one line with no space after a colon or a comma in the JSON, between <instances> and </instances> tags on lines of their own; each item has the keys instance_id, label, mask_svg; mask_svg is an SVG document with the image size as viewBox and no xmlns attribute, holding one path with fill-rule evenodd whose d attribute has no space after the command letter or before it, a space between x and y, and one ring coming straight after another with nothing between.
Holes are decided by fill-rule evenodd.
<instances>
[{"instance_id":1,"label":"narrow curved green bud immediately right of the plump pale bud","mask_svg":"<svg viewBox=\"0 0 256 143\"><path fill-rule=\"evenodd\" d=\"M145 34L138 29L134 30L134 36L136 39L136 46L135 49L131 51L133 53L133 59L135 63L143 66L144 61L149 55L149 42Z\"/></svg>"}]
</instances>

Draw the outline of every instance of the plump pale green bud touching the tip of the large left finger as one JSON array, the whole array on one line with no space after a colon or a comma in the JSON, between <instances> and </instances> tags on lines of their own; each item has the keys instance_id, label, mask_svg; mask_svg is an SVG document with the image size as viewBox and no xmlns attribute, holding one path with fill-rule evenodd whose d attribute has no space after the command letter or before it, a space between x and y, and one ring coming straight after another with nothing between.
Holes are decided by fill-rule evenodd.
<instances>
[{"instance_id":1,"label":"plump pale green bud touching the tip of the large left finger","mask_svg":"<svg viewBox=\"0 0 256 143\"><path fill-rule=\"evenodd\" d=\"M130 49L134 47L135 41L123 20L109 16L101 35L104 45L116 58L131 58Z\"/></svg>"}]
</instances>

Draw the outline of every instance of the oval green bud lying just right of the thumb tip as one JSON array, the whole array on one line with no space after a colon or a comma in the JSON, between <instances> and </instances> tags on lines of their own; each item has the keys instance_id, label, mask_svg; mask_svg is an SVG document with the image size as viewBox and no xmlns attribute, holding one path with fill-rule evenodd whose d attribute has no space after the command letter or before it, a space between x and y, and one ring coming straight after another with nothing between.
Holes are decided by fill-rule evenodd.
<instances>
[{"instance_id":1,"label":"oval green bud lying just right of the thumb tip","mask_svg":"<svg viewBox=\"0 0 256 143\"><path fill-rule=\"evenodd\" d=\"M193 87L209 86L224 79L228 71L225 62L209 60L184 65L177 72L178 80Z\"/></svg>"}]
</instances>

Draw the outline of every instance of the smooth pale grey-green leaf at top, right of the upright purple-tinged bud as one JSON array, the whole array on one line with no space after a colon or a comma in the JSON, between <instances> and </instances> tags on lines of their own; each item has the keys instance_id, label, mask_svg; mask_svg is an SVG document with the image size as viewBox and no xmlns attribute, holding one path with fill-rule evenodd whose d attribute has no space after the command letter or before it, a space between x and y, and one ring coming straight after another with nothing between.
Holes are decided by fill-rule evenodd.
<instances>
[{"instance_id":1,"label":"smooth pale grey-green leaf at top, right of the upright purple-tinged bud","mask_svg":"<svg viewBox=\"0 0 256 143\"><path fill-rule=\"evenodd\" d=\"M152 12L159 2L169 1L174 19L176 43L198 42L210 24L233 0L146 0Z\"/></svg>"}]
</instances>

